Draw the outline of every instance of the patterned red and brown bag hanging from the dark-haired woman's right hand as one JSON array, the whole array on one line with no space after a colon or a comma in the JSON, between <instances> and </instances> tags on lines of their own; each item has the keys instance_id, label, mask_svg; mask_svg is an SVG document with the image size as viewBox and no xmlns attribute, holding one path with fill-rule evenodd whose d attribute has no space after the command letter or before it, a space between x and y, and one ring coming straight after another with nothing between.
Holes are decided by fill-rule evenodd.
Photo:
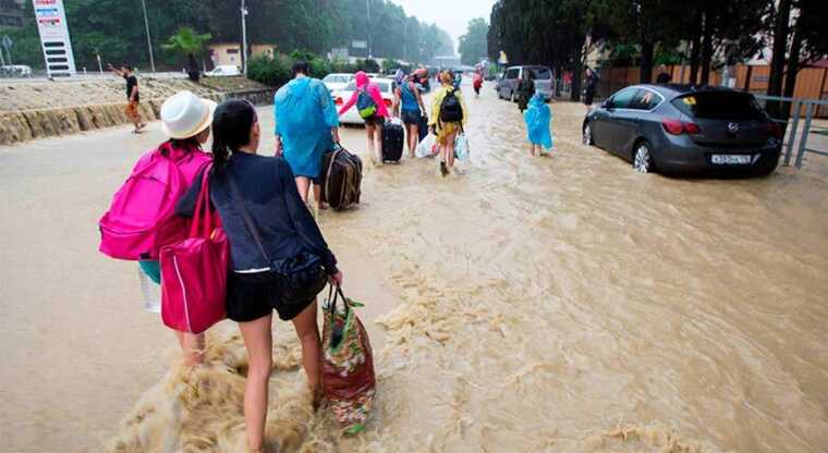
<instances>
[{"instance_id":1,"label":"patterned red and brown bag hanging from the dark-haired woman's right hand","mask_svg":"<svg viewBox=\"0 0 828 453\"><path fill-rule=\"evenodd\" d=\"M337 307L340 299L342 310ZM353 309L361 306L339 286L336 292L330 287L324 306L322 388L346 436L365 429L377 387L368 333Z\"/></svg>"}]
</instances>

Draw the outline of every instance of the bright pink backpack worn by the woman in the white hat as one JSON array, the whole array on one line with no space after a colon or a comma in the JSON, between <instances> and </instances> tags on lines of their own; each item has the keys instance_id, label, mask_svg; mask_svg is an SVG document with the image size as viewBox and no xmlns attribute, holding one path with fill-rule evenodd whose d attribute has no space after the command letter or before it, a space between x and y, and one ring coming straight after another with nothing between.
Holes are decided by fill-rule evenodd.
<instances>
[{"instance_id":1,"label":"bright pink backpack worn by the woman in the white hat","mask_svg":"<svg viewBox=\"0 0 828 453\"><path fill-rule=\"evenodd\" d=\"M175 161L157 149L144 155L100 218L100 252L126 260L158 259L161 246L186 236L175 205L209 156L190 152Z\"/></svg>"}]
</instances>

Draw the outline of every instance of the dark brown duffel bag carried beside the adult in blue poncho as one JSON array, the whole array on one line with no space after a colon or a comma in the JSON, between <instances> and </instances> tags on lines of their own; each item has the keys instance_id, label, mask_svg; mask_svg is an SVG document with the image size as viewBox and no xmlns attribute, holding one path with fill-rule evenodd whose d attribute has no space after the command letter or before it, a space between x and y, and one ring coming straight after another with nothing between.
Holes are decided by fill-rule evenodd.
<instances>
[{"instance_id":1,"label":"dark brown duffel bag carried beside the adult in blue poncho","mask_svg":"<svg viewBox=\"0 0 828 453\"><path fill-rule=\"evenodd\" d=\"M322 200L337 210L360 204L362 160L339 144L322 156Z\"/></svg>"}]
</instances>

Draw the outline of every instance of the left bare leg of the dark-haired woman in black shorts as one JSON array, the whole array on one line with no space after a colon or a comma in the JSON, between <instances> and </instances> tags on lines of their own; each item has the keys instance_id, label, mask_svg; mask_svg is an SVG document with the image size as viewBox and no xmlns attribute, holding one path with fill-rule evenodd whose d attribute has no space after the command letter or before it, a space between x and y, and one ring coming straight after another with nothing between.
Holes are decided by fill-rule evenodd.
<instances>
[{"instance_id":1,"label":"left bare leg of the dark-haired woman in black shorts","mask_svg":"<svg viewBox=\"0 0 828 453\"><path fill-rule=\"evenodd\" d=\"M247 445L261 451L267 420L267 394L272 368L272 315L249 322L239 322L247 350L247 380L244 383L244 423L247 427Z\"/></svg>"}]
</instances>

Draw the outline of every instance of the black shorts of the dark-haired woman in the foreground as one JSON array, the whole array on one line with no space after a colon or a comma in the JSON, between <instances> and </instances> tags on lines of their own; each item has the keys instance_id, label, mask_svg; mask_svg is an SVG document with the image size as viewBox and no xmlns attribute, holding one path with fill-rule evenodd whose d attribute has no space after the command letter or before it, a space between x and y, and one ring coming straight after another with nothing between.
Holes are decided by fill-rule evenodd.
<instances>
[{"instance_id":1,"label":"black shorts of the dark-haired woman in the foreground","mask_svg":"<svg viewBox=\"0 0 828 453\"><path fill-rule=\"evenodd\" d=\"M231 271L227 279L227 317L235 322L249 322L276 310L279 319L290 321L316 302L314 296L299 304L285 304L277 298L276 285L276 280L269 271Z\"/></svg>"}]
</instances>

